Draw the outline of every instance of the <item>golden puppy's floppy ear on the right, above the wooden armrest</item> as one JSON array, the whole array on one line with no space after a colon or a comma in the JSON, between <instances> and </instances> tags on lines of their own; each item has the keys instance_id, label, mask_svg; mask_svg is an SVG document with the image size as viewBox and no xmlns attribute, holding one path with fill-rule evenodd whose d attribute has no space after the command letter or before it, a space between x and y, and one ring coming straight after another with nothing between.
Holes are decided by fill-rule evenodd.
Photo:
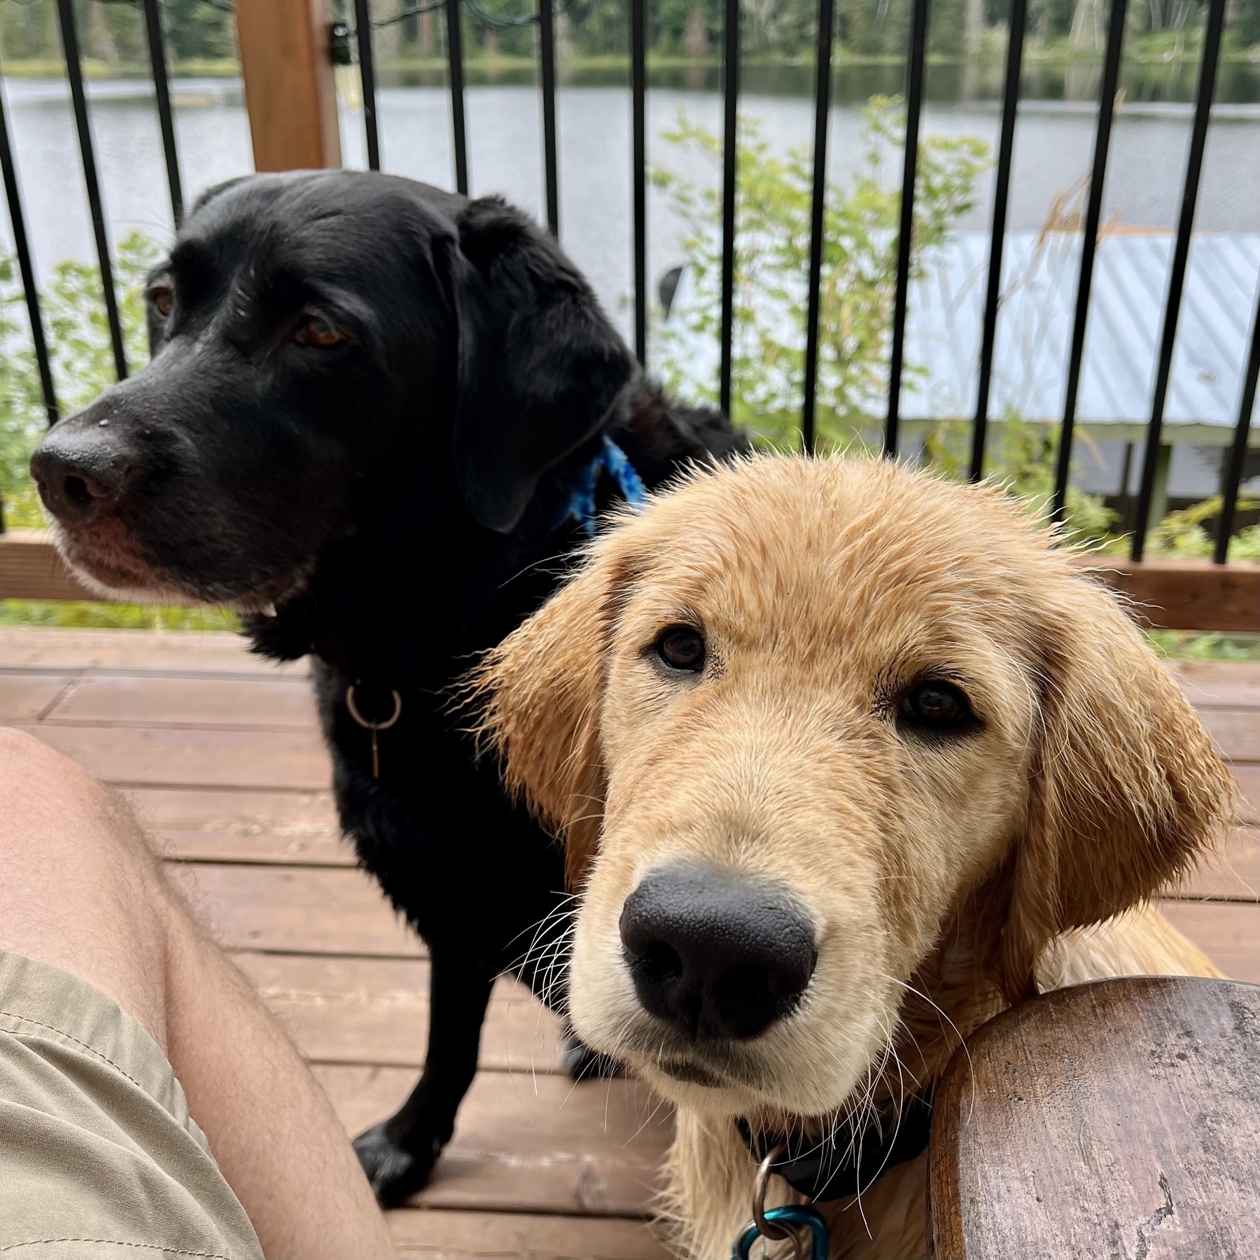
<instances>
[{"instance_id":1,"label":"golden puppy's floppy ear on the right, above the wooden armrest","mask_svg":"<svg viewBox=\"0 0 1260 1260\"><path fill-rule=\"evenodd\" d=\"M999 964L1012 1002L1034 992L1051 937L1177 878L1235 803L1198 716L1114 597L1071 577L1048 598L1041 732Z\"/></svg>"}]
</instances>

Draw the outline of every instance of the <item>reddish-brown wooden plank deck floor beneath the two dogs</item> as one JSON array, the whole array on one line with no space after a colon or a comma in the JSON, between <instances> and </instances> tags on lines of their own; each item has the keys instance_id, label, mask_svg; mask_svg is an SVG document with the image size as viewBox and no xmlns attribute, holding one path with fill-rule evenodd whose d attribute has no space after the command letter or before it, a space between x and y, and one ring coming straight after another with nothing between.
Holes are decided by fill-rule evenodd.
<instances>
[{"instance_id":1,"label":"reddish-brown wooden plank deck floor beneath the two dogs","mask_svg":"<svg viewBox=\"0 0 1260 1260\"><path fill-rule=\"evenodd\" d=\"M1179 677L1260 814L1260 665ZM421 1065L421 942L336 829L305 667L231 635L0 630L0 722L122 788L175 877L292 1032L348 1131L388 1115ZM1260 832L1163 902L1231 976L1260 983ZM501 980L455 1139L413 1206L410 1256L656 1260L646 1223L669 1116L631 1081L573 1085L556 1019Z\"/></svg>"}]
</instances>

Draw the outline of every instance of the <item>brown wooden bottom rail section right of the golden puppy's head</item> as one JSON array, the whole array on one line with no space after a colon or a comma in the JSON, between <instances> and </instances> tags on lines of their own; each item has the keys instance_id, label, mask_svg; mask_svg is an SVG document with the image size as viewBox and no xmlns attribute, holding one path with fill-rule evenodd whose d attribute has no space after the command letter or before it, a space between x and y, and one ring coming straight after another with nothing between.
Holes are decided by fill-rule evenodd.
<instances>
[{"instance_id":1,"label":"brown wooden bottom rail section right of the golden puppy's head","mask_svg":"<svg viewBox=\"0 0 1260 1260\"><path fill-rule=\"evenodd\" d=\"M1140 625L1157 630L1260 631L1260 564L1235 561L1081 557L1084 570L1133 601Z\"/></svg>"}]
</instances>

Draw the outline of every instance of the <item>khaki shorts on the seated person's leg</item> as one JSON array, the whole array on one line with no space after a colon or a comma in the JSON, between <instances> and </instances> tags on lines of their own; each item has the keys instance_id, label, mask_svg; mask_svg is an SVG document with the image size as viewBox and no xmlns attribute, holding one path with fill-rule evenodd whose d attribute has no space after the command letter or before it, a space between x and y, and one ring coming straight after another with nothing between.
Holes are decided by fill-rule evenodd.
<instances>
[{"instance_id":1,"label":"khaki shorts on the seated person's leg","mask_svg":"<svg viewBox=\"0 0 1260 1260\"><path fill-rule=\"evenodd\" d=\"M261 1260L184 1091L100 989L0 951L0 1256Z\"/></svg>"}]
</instances>

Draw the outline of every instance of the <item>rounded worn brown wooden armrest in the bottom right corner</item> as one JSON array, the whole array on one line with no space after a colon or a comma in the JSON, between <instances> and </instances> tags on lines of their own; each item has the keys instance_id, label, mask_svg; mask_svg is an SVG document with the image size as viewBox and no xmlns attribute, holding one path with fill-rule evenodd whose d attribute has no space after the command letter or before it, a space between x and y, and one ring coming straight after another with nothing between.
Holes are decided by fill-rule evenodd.
<instances>
[{"instance_id":1,"label":"rounded worn brown wooden armrest in the bottom right corner","mask_svg":"<svg viewBox=\"0 0 1260 1260\"><path fill-rule=\"evenodd\" d=\"M1189 976L1079 984L989 1021L936 1085L932 1254L1260 1254L1257 1022L1260 988Z\"/></svg>"}]
</instances>

